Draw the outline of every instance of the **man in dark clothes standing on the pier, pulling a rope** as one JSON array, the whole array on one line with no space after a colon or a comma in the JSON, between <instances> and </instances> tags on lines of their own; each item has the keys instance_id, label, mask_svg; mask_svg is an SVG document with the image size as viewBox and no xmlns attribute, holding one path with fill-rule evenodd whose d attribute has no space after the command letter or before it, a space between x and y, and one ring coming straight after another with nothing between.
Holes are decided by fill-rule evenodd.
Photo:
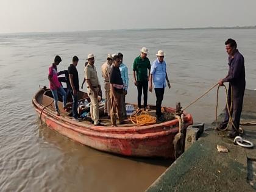
<instances>
[{"instance_id":1,"label":"man in dark clothes standing on the pier, pulling a rope","mask_svg":"<svg viewBox=\"0 0 256 192\"><path fill-rule=\"evenodd\" d=\"M231 107L230 115L226 106L226 115L224 121L219 125L218 129L225 129L229 124L229 118L232 118L233 124L231 132L228 137L235 138L239 135L240 116L243 108L244 90L246 86L245 69L244 69L244 57L236 49L236 41L229 38L226 42L226 51L229 55L229 73L224 79L219 80L219 85L223 85L224 82L229 82L228 92L228 104ZM232 97L232 98L231 98ZM232 106L230 106L232 102Z\"/></svg>"}]
</instances>

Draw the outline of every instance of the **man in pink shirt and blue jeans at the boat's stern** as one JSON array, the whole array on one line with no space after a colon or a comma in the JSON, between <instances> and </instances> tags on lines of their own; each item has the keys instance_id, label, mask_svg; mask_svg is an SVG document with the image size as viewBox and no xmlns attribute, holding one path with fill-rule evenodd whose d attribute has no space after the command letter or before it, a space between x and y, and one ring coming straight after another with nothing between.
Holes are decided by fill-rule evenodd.
<instances>
[{"instance_id":1,"label":"man in pink shirt and blue jeans at the boat's stern","mask_svg":"<svg viewBox=\"0 0 256 192\"><path fill-rule=\"evenodd\" d=\"M58 92L62 94L63 99L63 108L66 109L66 91L63 89L62 85L60 85L60 82L58 80L58 72L57 72L57 65L62 62L62 59L59 55L55 56L54 63L52 63L52 66L49 67L49 74L48 79L50 82L50 89L52 91L52 95L54 97L54 105L55 105L55 111L56 115L60 115L59 107L58 107Z\"/></svg>"}]
</instances>

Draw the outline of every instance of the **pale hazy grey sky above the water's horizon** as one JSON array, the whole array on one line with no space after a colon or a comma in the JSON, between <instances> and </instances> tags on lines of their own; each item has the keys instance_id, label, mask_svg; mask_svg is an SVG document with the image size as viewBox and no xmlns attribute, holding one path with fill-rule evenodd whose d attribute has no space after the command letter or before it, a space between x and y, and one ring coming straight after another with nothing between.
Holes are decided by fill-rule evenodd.
<instances>
[{"instance_id":1,"label":"pale hazy grey sky above the water's horizon","mask_svg":"<svg viewBox=\"0 0 256 192\"><path fill-rule=\"evenodd\" d=\"M0 33L255 26L256 0L0 0Z\"/></svg>"}]
</instances>

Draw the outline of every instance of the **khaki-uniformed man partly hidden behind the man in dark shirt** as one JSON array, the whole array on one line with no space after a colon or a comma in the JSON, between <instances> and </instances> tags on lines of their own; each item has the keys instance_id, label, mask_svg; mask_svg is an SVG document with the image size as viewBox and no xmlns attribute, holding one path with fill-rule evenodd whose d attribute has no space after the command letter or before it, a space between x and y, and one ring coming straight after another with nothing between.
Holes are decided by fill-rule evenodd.
<instances>
[{"instance_id":1,"label":"khaki-uniformed man partly hidden behind the man in dark shirt","mask_svg":"<svg viewBox=\"0 0 256 192\"><path fill-rule=\"evenodd\" d=\"M110 84L109 84L109 73L112 65L112 55L107 55L107 61L101 66L102 77L104 79L105 88L105 105L104 105L104 116L108 116L110 119Z\"/></svg>"}]
</instances>

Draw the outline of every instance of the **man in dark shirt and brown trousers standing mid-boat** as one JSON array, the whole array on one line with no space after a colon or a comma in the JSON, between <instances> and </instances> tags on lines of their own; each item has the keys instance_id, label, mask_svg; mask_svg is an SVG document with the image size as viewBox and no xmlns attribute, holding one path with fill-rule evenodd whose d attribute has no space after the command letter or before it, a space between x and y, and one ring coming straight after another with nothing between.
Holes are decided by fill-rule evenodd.
<instances>
[{"instance_id":1,"label":"man in dark shirt and brown trousers standing mid-boat","mask_svg":"<svg viewBox=\"0 0 256 192\"><path fill-rule=\"evenodd\" d=\"M113 57L113 64L110 71L110 99L111 99L111 110L110 118L111 125L116 126L116 113L118 115L119 124L123 124L123 117L121 116L121 97L124 94L123 79L119 69L120 58L118 55Z\"/></svg>"}]
</instances>

